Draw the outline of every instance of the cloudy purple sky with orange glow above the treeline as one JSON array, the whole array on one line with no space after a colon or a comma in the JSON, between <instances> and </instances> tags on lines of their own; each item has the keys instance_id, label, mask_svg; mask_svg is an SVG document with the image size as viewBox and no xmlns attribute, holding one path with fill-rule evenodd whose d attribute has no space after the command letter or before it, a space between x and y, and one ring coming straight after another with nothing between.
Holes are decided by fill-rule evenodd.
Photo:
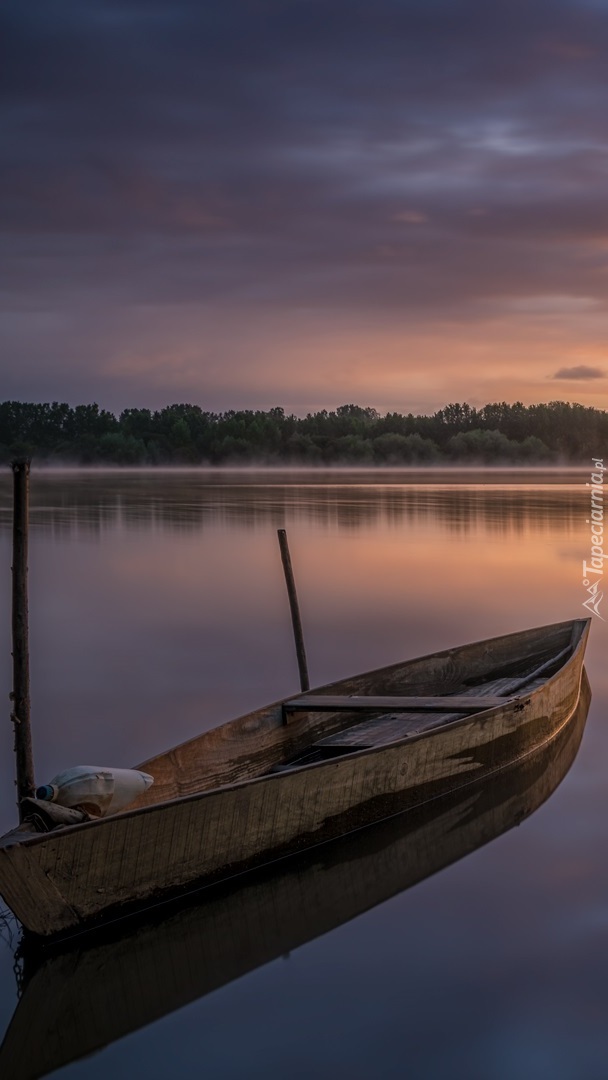
<instances>
[{"instance_id":1,"label":"cloudy purple sky with orange glow above the treeline","mask_svg":"<svg viewBox=\"0 0 608 1080\"><path fill-rule=\"evenodd\" d=\"M0 21L0 400L608 407L608 0Z\"/></svg>"}]
</instances>

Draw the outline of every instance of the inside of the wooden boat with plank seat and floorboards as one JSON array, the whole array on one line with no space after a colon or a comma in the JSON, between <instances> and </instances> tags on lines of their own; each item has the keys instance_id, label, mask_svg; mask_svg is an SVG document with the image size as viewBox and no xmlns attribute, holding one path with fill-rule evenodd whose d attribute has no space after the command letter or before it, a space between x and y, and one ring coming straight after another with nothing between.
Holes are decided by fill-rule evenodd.
<instances>
[{"instance_id":1,"label":"inside of the wooden boat with plank seat and floorboards","mask_svg":"<svg viewBox=\"0 0 608 1080\"><path fill-rule=\"evenodd\" d=\"M531 693L589 629L576 619L402 661L274 702L137 768L154 783L135 809L269 777L405 738Z\"/></svg>"}]
</instances>

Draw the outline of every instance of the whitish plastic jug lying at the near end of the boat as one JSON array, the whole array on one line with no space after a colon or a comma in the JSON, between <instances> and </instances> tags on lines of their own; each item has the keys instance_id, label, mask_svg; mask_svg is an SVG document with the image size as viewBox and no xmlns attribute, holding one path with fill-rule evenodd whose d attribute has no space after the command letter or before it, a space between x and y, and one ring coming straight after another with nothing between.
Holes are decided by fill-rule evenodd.
<instances>
[{"instance_id":1,"label":"whitish plastic jug lying at the near end of the boat","mask_svg":"<svg viewBox=\"0 0 608 1080\"><path fill-rule=\"evenodd\" d=\"M58 802L63 807L79 807L96 818L105 818L123 810L153 782L152 777L138 769L77 765L39 787L36 798Z\"/></svg>"}]
</instances>

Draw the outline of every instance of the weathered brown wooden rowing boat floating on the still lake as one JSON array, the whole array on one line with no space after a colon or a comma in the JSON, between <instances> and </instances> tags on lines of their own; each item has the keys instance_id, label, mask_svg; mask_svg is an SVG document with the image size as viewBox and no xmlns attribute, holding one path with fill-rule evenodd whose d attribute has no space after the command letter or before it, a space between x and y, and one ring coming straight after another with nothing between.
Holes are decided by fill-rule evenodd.
<instances>
[{"instance_id":1,"label":"weathered brown wooden rowing boat floating on the still lake","mask_svg":"<svg viewBox=\"0 0 608 1080\"><path fill-rule=\"evenodd\" d=\"M573 714L590 620L342 679L206 731L139 768L132 809L0 840L0 893L56 935L340 836L487 777Z\"/></svg>"}]
</instances>

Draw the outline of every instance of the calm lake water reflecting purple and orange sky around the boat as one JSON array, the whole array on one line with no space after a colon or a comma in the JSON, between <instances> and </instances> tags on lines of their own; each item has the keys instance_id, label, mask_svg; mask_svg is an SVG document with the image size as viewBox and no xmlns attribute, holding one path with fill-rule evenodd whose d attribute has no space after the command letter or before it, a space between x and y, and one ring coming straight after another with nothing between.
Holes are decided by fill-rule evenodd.
<instances>
[{"instance_id":1,"label":"calm lake water reflecting purple and orange sky around the boat","mask_svg":"<svg viewBox=\"0 0 608 1080\"><path fill-rule=\"evenodd\" d=\"M283 526L313 686L585 615L589 478L584 470L33 473L38 781L81 762L132 765L297 690L276 542ZM0 481L2 832L15 816L10 498L6 474ZM313 908L321 910L326 897L314 893L314 866L305 867L262 883L259 893L249 890L232 921L228 893L216 901L213 919L190 910L181 921L159 922L137 940L143 967L130 960L124 940L113 953L81 957L89 981L80 996L89 987L92 1011L113 1032L99 1038L114 1041L73 1064L66 1055L72 1043L78 1051L81 1032L71 1032L60 1009L51 1026L54 1039L63 1038L63 1057L45 1056L46 1037L36 1047L44 1010L56 1009L62 986L76 978L72 961L57 962L48 976L53 1003L43 994L38 1001L33 1064L26 1074L14 1061L8 1076L33 1076L38 1061L63 1062L56 1075L75 1080L605 1080L608 623L596 617L593 623L586 663L593 701L580 750L563 783L518 828L413 888L389 891L389 899L382 888L390 860L367 858L368 840L344 848L340 866L350 867L353 887L362 875L369 879L365 895L375 906L363 914L349 907L340 870L333 878L338 906L315 922ZM515 806L516 784L509 798ZM503 827L510 823L505 818ZM440 841L431 842L435 834L424 828L432 855ZM308 942L307 919L309 936L319 934ZM164 977L170 939L172 985L162 1008L173 1011L162 1015L157 1005L146 1013L147 984L157 969ZM17 1002L13 962L14 948L0 942L2 1031ZM136 1002L146 1026L129 1032Z\"/></svg>"}]
</instances>

